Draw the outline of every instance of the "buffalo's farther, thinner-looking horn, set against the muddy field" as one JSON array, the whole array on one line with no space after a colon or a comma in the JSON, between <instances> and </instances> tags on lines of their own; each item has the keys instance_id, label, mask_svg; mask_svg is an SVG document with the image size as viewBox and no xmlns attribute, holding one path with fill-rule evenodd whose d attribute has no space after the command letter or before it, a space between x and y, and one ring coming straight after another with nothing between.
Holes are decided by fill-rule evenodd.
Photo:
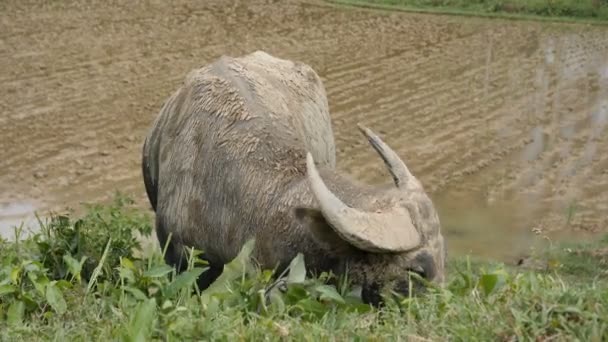
<instances>
[{"instance_id":1,"label":"buffalo's farther, thinner-looking horn, set against the muddy field","mask_svg":"<svg viewBox=\"0 0 608 342\"><path fill-rule=\"evenodd\" d=\"M384 164L388 167L391 176L393 176L393 180L395 181L395 185L398 188L407 188L407 189L416 189L420 187L420 183L412 175L410 170L407 168L403 160L397 155L392 148L390 148L387 144L380 139L372 130L363 126L362 124L357 124L359 130L365 135L369 143L372 145L374 150L378 152Z\"/></svg>"}]
</instances>

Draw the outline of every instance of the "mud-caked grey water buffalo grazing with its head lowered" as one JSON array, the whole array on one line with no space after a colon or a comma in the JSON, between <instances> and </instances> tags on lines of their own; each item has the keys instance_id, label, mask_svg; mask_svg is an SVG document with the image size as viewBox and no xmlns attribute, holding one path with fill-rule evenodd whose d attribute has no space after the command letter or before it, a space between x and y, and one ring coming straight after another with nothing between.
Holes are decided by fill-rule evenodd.
<instances>
[{"instance_id":1,"label":"mud-caked grey water buffalo grazing with its head lowered","mask_svg":"<svg viewBox=\"0 0 608 342\"><path fill-rule=\"evenodd\" d=\"M166 261L204 251L207 288L249 239L263 268L347 276L362 299L408 294L408 271L444 279L439 217L421 183L368 128L393 178L383 187L336 170L327 96L308 65L262 51L191 71L165 102L143 146L143 177ZM419 286L423 288L423 286Z\"/></svg>"}]
</instances>

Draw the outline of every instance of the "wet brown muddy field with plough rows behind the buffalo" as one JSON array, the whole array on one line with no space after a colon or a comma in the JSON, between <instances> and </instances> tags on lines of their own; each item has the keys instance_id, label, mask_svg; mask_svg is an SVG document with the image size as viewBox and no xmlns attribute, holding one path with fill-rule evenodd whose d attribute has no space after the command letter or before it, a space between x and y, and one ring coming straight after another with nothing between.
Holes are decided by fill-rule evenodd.
<instances>
[{"instance_id":1,"label":"wet brown muddy field with plough rows behind the buffalo","mask_svg":"<svg viewBox=\"0 0 608 342\"><path fill-rule=\"evenodd\" d=\"M163 101L258 49L322 76L339 168L389 180L357 122L398 150L452 252L608 231L607 28L271 0L2 1L0 231L116 189L147 205L141 144Z\"/></svg>"}]
</instances>

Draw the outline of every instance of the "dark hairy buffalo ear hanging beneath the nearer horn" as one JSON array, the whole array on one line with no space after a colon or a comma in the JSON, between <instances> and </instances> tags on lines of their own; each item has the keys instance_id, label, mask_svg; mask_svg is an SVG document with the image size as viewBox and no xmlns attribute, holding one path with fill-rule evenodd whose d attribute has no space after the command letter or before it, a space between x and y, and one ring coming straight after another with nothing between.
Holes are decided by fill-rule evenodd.
<instances>
[{"instance_id":1,"label":"dark hairy buffalo ear hanging beneath the nearer horn","mask_svg":"<svg viewBox=\"0 0 608 342\"><path fill-rule=\"evenodd\" d=\"M312 233L314 240L328 252L335 255L352 254L356 248L342 239L329 225L321 210L296 207L296 220Z\"/></svg>"}]
</instances>

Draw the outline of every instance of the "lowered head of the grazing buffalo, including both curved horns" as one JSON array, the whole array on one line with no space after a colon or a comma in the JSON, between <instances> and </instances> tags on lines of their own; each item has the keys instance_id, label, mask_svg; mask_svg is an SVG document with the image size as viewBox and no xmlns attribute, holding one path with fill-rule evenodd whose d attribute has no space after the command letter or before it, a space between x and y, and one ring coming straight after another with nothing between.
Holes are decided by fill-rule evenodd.
<instances>
[{"instance_id":1,"label":"lowered head of the grazing buffalo, including both curved horns","mask_svg":"<svg viewBox=\"0 0 608 342\"><path fill-rule=\"evenodd\" d=\"M378 305L385 289L406 296L410 289L424 289L423 282L411 281L412 272L443 282L446 252L439 217L422 184L377 135L359 129L384 161L394 186L342 191L356 197L348 205L326 185L309 153L307 177L318 208L298 208L296 214L329 255L344 260L348 277L362 286L363 300Z\"/></svg>"}]
</instances>

